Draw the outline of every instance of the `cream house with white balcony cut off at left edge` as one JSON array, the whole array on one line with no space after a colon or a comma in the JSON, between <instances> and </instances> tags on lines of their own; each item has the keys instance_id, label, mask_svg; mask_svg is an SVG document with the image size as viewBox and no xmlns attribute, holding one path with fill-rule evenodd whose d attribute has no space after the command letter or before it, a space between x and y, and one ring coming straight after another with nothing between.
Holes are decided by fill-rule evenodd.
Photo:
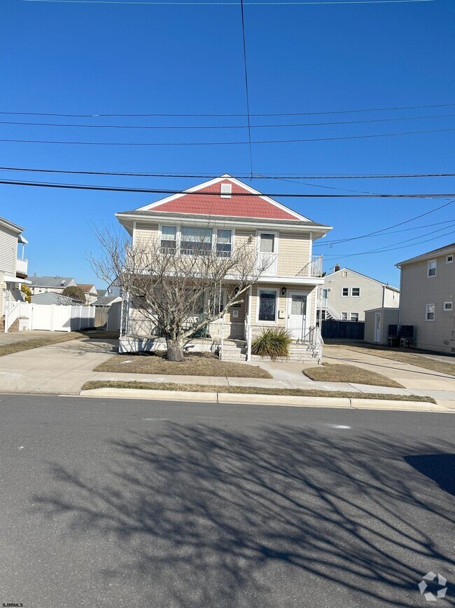
<instances>
[{"instance_id":1,"label":"cream house with white balcony cut off at left edge","mask_svg":"<svg viewBox=\"0 0 455 608\"><path fill-rule=\"evenodd\" d=\"M24 245L28 241L22 235L23 231L22 227L0 217L0 319L3 319L6 308L22 299L22 284L29 284L28 262L24 259ZM3 325L4 320L1 329Z\"/></svg>"}]
</instances>

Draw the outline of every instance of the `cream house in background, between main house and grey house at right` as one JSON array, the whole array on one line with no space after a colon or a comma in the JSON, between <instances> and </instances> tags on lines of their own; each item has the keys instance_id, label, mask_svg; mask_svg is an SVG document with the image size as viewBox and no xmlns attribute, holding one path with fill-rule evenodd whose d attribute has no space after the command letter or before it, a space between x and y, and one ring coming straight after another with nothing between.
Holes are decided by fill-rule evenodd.
<instances>
[{"instance_id":1,"label":"cream house in background, between main house and grey house at right","mask_svg":"<svg viewBox=\"0 0 455 608\"><path fill-rule=\"evenodd\" d=\"M379 307L398 309L400 290L350 268L335 266L321 288L321 320L364 321L365 311Z\"/></svg>"}]
</instances>

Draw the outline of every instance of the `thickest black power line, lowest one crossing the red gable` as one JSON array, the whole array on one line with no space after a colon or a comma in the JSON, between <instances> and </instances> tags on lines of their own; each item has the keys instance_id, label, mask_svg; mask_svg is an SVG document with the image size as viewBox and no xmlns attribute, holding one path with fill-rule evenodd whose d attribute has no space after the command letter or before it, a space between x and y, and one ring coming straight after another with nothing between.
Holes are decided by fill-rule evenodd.
<instances>
[{"instance_id":1,"label":"thickest black power line, lowest one crossing the red gable","mask_svg":"<svg viewBox=\"0 0 455 608\"><path fill-rule=\"evenodd\" d=\"M146 192L150 194L195 194L200 196L220 196L218 192L204 192L200 191L188 192L185 190L168 190L168 189L157 189L157 188L128 188L118 186L92 186L89 184L57 184L53 182L22 182L15 180L0 180L0 184L7 184L10 186L31 186L31 187L45 187L45 188L64 188L74 190L101 190L101 191L113 191L113 192ZM451 198L455 194L253 194L250 192L241 192L232 194L234 196L269 196L269 197L283 197L283 198ZM453 201L452 201L453 202ZM447 203L449 204L449 203ZM443 205L446 206L446 205ZM425 215L425 214L423 214Z\"/></svg>"}]
</instances>

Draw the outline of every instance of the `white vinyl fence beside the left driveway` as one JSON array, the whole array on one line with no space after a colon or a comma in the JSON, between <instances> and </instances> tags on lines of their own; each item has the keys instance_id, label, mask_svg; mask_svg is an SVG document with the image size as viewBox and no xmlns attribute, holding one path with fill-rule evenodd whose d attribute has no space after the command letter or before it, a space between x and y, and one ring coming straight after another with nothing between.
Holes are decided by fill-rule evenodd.
<instances>
[{"instance_id":1,"label":"white vinyl fence beside the left driveway","mask_svg":"<svg viewBox=\"0 0 455 608\"><path fill-rule=\"evenodd\" d=\"M20 330L48 330L75 332L94 327L93 306L57 306L56 304L29 304L18 302L14 313L19 318ZM9 325L10 327L10 325ZM8 331L7 325L5 331Z\"/></svg>"}]
</instances>

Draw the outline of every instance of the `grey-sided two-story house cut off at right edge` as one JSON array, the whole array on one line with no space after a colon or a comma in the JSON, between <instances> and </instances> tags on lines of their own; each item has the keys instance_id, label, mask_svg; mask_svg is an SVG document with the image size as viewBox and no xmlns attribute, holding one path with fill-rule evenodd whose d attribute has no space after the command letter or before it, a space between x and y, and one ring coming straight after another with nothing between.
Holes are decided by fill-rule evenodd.
<instances>
[{"instance_id":1,"label":"grey-sided two-story house cut off at right edge","mask_svg":"<svg viewBox=\"0 0 455 608\"><path fill-rule=\"evenodd\" d=\"M400 325L414 326L414 346L455 353L455 243L396 266L401 270Z\"/></svg>"}]
</instances>

